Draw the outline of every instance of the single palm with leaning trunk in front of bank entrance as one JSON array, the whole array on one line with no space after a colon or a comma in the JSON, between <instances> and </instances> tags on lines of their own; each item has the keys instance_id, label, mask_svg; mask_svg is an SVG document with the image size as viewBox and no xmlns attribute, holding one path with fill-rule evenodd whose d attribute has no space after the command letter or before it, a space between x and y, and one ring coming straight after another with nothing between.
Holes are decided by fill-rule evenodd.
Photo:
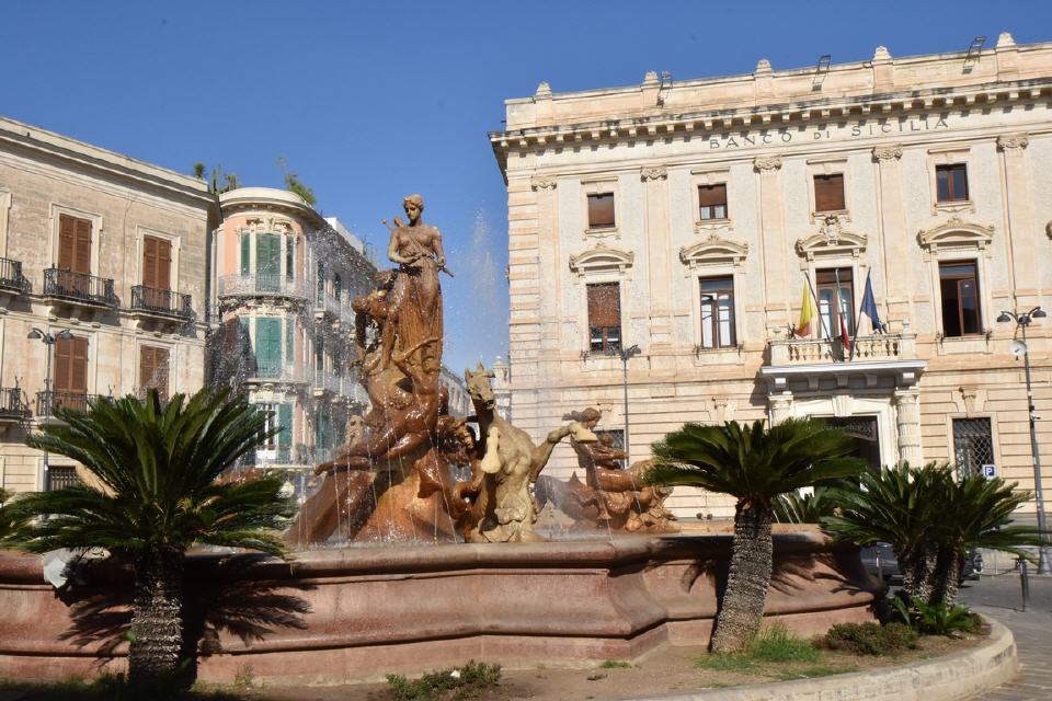
<instances>
[{"instance_id":1,"label":"single palm with leaning trunk in front of bank entrance","mask_svg":"<svg viewBox=\"0 0 1052 701\"><path fill-rule=\"evenodd\" d=\"M728 422L686 424L653 447L651 484L698 486L737 497L727 589L716 619L713 652L736 652L752 642L770 584L773 502L779 494L823 480L858 474L845 434L808 420L765 428Z\"/></svg>"}]
</instances>

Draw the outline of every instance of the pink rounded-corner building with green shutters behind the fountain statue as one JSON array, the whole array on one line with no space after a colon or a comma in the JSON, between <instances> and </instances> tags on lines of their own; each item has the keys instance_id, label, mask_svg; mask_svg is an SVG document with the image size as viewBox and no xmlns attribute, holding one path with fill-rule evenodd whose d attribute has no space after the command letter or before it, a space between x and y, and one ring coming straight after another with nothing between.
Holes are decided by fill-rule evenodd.
<instances>
[{"instance_id":1,"label":"pink rounded-corner building with green shutters behind the fountain statue","mask_svg":"<svg viewBox=\"0 0 1052 701\"><path fill-rule=\"evenodd\" d=\"M297 195L240 187L219 196L211 246L209 375L248 392L281 427L254 463L302 493L368 399L351 367L351 301L373 289L368 251Z\"/></svg>"}]
</instances>

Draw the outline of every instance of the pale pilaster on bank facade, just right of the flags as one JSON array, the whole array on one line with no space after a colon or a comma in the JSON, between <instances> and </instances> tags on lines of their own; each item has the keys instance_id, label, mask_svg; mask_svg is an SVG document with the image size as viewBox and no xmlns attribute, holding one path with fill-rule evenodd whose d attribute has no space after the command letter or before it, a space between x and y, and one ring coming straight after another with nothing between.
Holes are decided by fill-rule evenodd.
<instances>
[{"instance_id":1,"label":"pale pilaster on bank facade, just right of the flags","mask_svg":"<svg viewBox=\"0 0 1052 701\"><path fill-rule=\"evenodd\" d=\"M883 273L883 288L888 303L890 319L912 318L913 309L910 290L910 266L894 266L894 261L908 260L913 250L910 234L906 230L906 206L902 193L902 145L891 143L878 146L873 149L873 160L877 162L880 180L880 250L883 255L881 268ZM891 275L891 269L895 274ZM883 310L881 310L883 311Z\"/></svg>"}]
</instances>

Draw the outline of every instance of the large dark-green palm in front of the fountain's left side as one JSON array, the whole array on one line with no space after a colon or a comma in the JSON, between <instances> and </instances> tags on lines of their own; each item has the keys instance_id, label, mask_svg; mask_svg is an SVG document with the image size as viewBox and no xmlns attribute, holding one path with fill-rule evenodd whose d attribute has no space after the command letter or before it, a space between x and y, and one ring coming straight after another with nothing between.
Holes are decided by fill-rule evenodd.
<instances>
[{"instance_id":1,"label":"large dark-green palm in front of the fountain's left side","mask_svg":"<svg viewBox=\"0 0 1052 701\"><path fill-rule=\"evenodd\" d=\"M128 677L156 687L176 670L182 643L183 555L195 543L285 554L277 535L294 513L272 478L216 479L270 437L266 417L243 398L205 388L162 404L156 390L94 400L88 413L59 410L26 443L77 460L104 490L87 485L26 494L5 507L9 542L30 552L102 547L134 572Z\"/></svg>"}]
</instances>

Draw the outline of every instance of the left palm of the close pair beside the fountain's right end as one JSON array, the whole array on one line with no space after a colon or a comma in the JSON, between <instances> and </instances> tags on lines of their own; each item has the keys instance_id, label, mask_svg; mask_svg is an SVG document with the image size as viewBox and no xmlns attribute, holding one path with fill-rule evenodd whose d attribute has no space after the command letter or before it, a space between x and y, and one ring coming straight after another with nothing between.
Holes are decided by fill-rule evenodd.
<instances>
[{"instance_id":1,"label":"left palm of the close pair beside the fountain's right end","mask_svg":"<svg viewBox=\"0 0 1052 701\"><path fill-rule=\"evenodd\" d=\"M927 599L937 554L931 525L942 508L948 474L946 466L934 462L924 468L903 462L867 471L859 487L836 491L838 510L822 522L841 541L862 547L889 543L899 561L905 595Z\"/></svg>"}]
</instances>

